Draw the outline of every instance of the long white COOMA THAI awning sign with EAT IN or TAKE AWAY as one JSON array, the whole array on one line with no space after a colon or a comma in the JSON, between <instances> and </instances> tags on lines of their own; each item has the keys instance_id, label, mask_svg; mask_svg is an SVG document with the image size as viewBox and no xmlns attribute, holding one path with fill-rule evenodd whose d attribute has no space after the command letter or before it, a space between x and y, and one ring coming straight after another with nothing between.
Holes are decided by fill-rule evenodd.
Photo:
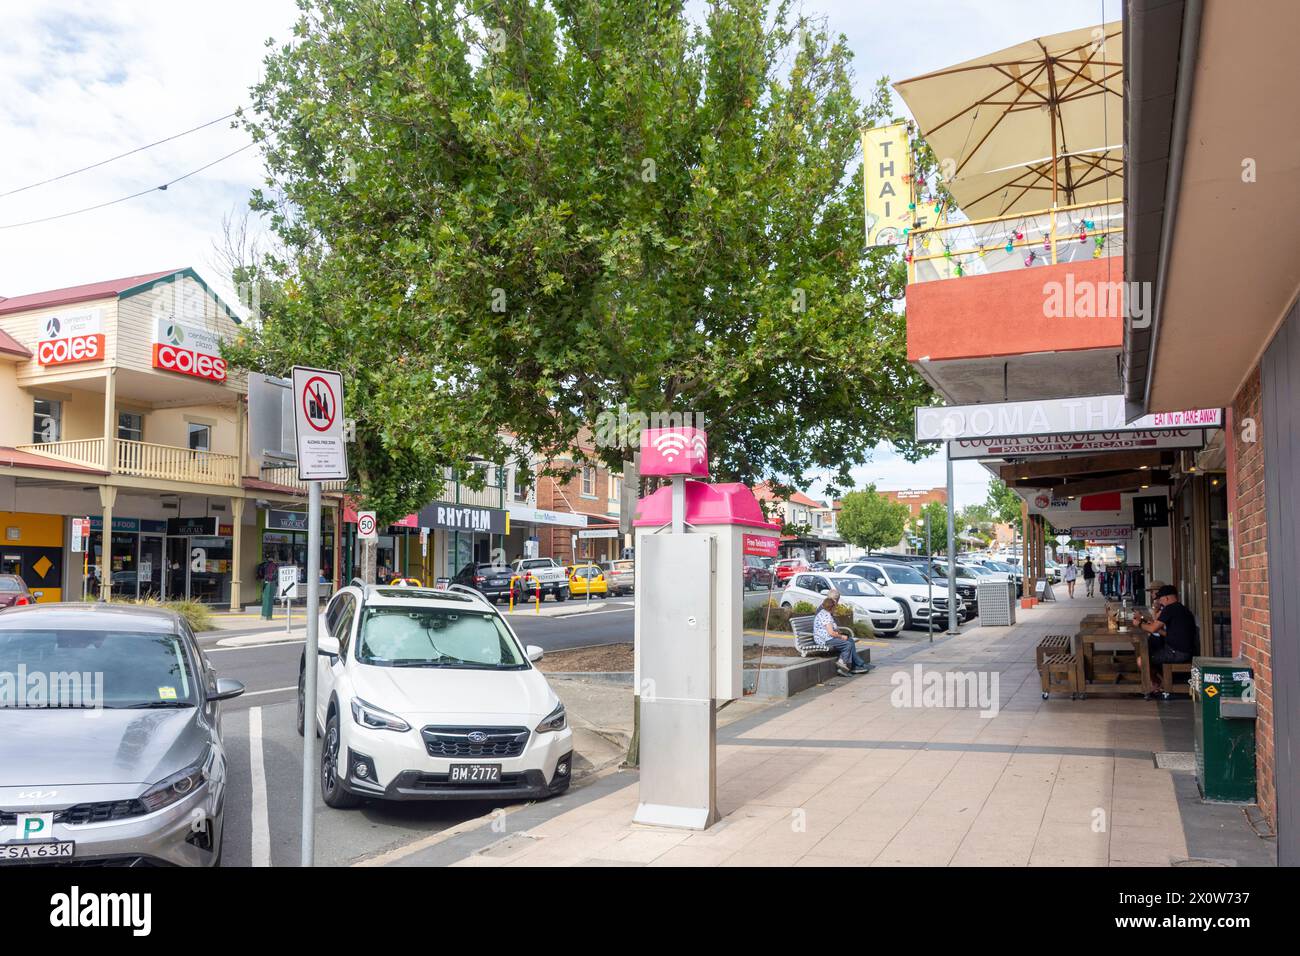
<instances>
[{"instance_id":1,"label":"long white COOMA THAI awning sign with EAT IN or TAKE AWAY","mask_svg":"<svg viewBox=\"0 0 1300 956\"><path fill-rule=\"evenodd\" d=\"M1035 437L1079 432L1149 432L1219 428L1222 408L1190 408L1124 420L1123 395L1053 398L1041 402L949 405L915 410L916 441Z\"/></svg>"}]
</instances>

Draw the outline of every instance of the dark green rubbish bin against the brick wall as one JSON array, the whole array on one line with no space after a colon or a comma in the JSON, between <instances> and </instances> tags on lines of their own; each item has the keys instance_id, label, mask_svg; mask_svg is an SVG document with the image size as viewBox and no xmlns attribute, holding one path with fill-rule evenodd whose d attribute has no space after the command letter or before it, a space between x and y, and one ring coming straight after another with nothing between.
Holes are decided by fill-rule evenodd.
<instances>
[{"instance_id":1,"label":"dark green rubbish bin against the brick wall","mask_svg":"<svg viewBox=\"0 0 1300 956\"><path fill-rule=\"evenodd\" d=\"M1192 658L1196 783L1216 804L1254 803L1254 671L1242 658Z\"/></svg>"}]
</instances>

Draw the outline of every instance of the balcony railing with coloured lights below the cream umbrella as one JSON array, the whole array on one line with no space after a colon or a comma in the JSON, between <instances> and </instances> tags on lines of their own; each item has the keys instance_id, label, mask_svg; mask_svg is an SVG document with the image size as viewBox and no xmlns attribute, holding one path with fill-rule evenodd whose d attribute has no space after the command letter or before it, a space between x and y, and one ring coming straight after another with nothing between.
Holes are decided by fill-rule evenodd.
<instances>
[{"instance_id":1,"label":"balcony railing with coloured lights below the cream umbrella","mask_svg":"<svg viewBox=\"0 0 1300 956\"><path fill-rule=\"evenodd\" d=\"M985 276L1123 255L1123 200L948 222L907 237L907 281Z\"/></svg>"}]
</instances>

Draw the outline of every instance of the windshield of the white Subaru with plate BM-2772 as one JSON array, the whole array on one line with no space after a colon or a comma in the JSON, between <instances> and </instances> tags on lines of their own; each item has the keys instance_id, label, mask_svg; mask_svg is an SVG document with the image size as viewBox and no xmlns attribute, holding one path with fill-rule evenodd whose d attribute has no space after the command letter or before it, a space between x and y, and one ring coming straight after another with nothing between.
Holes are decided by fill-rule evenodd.
<instances>
[{"instance_id":1,"label":"windshield of the white Subaru with plate BM-2772","mask_svg":"<svg viewBox=\"0 0 1300 956\"><path fill-rule=\"evenodd\" d=\"M356 659L376 667L528 669L500 618L454 607L367 607Z\"/></svg>"}]
</instances>

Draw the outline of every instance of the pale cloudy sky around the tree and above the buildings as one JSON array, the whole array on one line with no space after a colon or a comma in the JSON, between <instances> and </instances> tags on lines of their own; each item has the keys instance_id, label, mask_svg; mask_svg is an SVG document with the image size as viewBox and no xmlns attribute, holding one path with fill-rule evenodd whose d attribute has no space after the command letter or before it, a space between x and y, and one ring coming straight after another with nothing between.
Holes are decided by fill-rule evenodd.
<instances>
[{"instance_id":1,"label":"pale cloudy sky around the tree and above the buildings","mask_svg":"<svg viewBox=\"0 0 1300 956\"><path fill-rule=\"evenodd\" d=\"M859 94L880 75L906 79L1032 36L1118 20L1121 0L803 0L854 53ZM247 105L269 38L285 42L292 0L5 0L0 4L0 295L192 265L218 287L213 243L224 216L263 185L256 150L156 187L248 143L230 121L25 189L188 130ZM905 114L897 101L897 114ZM147 195L36 225L14 225ZM8 194L8 195L5 195ZM854 470L859 486L933 488L935 455L889 447ZM984 499L988 473L954 466L956 501ZM816 496L823 483L809 492Z\"/></svg>"}]
</instances>

